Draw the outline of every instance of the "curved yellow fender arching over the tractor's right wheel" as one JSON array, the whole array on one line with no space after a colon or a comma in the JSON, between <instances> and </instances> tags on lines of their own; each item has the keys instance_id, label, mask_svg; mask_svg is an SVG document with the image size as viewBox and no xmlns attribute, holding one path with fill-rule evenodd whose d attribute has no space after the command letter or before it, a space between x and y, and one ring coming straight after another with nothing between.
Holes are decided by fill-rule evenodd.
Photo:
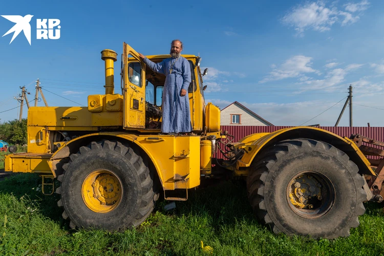
<instances>
[{"instance_id":1,"label":"curved yellow fender arching over the tractor's right wheel","mask_svg":"<svg viewBox=\"0 0 384 256\"><path fill-rule=\"evenodd\" d=\"M249 167L255 156L263 152L265 148L276 142L293 138L313 139L331 144L349 156L350 160L358 166L360 174L376 176L370 166L370 162L352 140L309 126L296 126L273 133L252 134L244 137L239 141L240 144L238 146L243 148L245 153L238 161L237 167Z\"/></svg>"}]
</instances>

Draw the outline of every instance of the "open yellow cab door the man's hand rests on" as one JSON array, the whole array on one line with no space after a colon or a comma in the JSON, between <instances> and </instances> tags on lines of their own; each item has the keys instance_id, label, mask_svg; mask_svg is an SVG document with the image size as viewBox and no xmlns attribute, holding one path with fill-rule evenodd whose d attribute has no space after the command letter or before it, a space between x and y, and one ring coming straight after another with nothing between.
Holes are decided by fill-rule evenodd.
<instances>
[{"instance_id":1,"label":"open yellow cab door the man's hand rests on","mask_svg":"<svg viewBox=\"0 0 384 256\"><path fill-rule=\"evenodd\" d=\"M139 54L123 43L124 129L145 128L145 64Z\"/></svg>"}]
</instances>

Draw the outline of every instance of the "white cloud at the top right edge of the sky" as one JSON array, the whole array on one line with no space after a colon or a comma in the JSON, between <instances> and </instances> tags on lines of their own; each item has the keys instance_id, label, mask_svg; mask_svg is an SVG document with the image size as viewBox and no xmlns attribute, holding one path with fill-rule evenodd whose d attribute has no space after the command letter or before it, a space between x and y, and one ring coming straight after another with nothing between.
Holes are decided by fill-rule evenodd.
<instances>
[{"instance_id":1,"label":"white cloud at the top right edge of the sky","mask_svg":"<svg viewBox=\"0 0 384 256\"><path fill-rule=\"evenodd\" d=\"M346 11L339 11L334 3L326 6L323 1L306 2L303 5L293 7L283 18L284 25L294 27L296 36L304 36L305 30L319 32L329 31L331 27L342 19L342 26L357 22L360 17L353 16L356 11L364 11L368 8L369 2L363 0L357 4L344 5Z\"/></svg>"}]
</instances>

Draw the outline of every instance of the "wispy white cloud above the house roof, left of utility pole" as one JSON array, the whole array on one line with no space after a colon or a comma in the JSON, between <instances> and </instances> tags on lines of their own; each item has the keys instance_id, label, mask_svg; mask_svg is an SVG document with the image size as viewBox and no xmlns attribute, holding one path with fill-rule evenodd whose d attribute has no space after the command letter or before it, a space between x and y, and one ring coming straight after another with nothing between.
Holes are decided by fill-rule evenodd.
<instances>
[{"instance_id":1,"label":"wispy white cloud above the house roof, left of utility pole","mask_svg":"<svg viewBox=\"0 0 384 256\"><path fill-rule=\"evenodd\" d=\"M285 78L303 76L304 73L320 74L318 70L312 69L311 57L296 55L287 59L279 68L273 69L268 76L264 77L260 83L267 81L281 80Z\"/></svg>"}]
</instances>

